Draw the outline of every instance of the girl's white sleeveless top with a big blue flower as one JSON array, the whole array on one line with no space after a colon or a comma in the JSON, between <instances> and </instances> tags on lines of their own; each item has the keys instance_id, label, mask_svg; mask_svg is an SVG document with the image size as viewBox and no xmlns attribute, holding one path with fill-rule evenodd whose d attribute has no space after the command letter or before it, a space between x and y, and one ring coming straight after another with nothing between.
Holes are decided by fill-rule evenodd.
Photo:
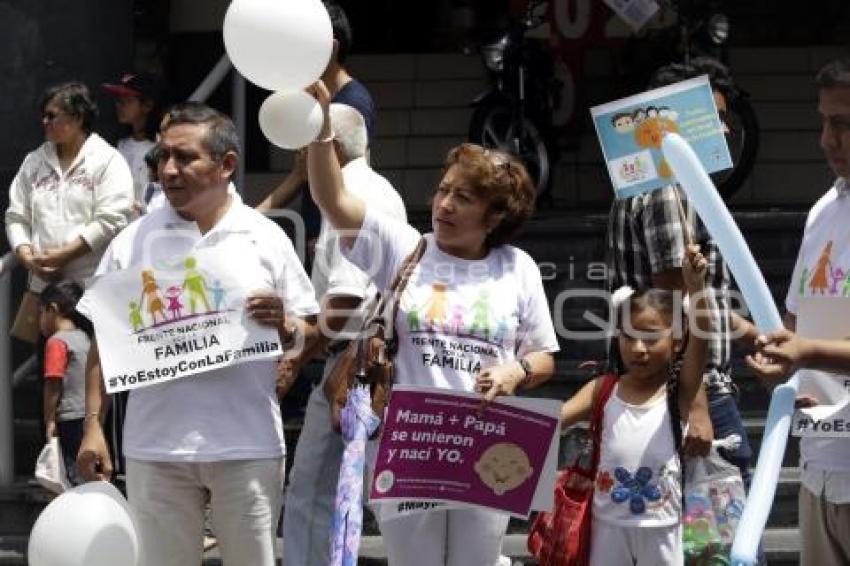
<instances>
[{"instance_id":1,"label":"girl's white sleeveless top with a big blue flower","mask_svg":"<svg viewBox=\"0 0 850 566\"><path fill-rule=\"evenodd\" d=\"M667 396L632 405L618 390L605 405L593 518L623 526L675 525L682 513L682 476Z\"/></svg>"}]
</instances>

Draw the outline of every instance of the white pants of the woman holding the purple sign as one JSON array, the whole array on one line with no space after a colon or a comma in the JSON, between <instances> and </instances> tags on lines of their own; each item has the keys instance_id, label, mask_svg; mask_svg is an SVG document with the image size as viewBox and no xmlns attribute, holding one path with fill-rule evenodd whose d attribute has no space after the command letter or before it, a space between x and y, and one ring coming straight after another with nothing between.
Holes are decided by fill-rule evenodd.
<instances>
[{"instance_id":1,"label":"white pants of the woman holding the purple sign","mask_svg":"<svg viewBox=\"0 0 850 566\"><path fill-rule=\"evenodd\" d=\"M495 511L453 509L379 523L390 566L493 566L508 520Z\"/></svg>"}]
</instances>

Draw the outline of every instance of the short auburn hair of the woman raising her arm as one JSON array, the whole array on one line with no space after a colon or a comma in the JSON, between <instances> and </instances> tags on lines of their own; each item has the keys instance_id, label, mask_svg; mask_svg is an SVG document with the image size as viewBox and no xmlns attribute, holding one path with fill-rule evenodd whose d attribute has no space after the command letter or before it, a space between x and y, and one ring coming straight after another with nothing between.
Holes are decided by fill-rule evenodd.
<instances>
[{"instance_id":1,"label":"short auburn hair of the woman raising her arm","mask_svg":"<svg viewBox=\"0 0 850 566\"><path fill-rule=\"evenodd\" d=\"M449 151L443 174L453 165L463 168L476 195L487 201L488 214L501 216L484 245L493 249L509 243L534 212L537 193L525 166L512 155L472 143Z\"/></svg>"}]
</instances>

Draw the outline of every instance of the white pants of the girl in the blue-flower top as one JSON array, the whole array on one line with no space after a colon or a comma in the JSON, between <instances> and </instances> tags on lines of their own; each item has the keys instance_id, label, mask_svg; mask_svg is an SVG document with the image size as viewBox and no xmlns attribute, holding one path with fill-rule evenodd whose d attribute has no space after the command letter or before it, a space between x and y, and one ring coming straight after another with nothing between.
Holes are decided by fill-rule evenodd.
<instances>
[{"instance_id":1,"label":"white pants of the girl in the blue-flower top","mask_svg":"<svg viewBox=\"0 0 850 566\"><path fill-rule=\"evenodd\" d=\"M622 527L593 521L591 566L682 566L682 524Z\"/></svg>"}]
</instances>

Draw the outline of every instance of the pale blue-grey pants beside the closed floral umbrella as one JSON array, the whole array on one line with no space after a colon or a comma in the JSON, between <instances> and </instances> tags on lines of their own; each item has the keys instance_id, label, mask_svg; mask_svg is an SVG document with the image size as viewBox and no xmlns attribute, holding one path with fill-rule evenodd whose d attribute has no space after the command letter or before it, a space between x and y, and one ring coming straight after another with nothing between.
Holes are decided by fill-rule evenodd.
<instances>
[{"instance_id":1,"label":"pale blue-grey pants beside the closed floral umbrella","mask_svg":"<svg viewBox=\"0 0 850 566\"><path fill-rule=\"evenodd\" d=\"M336 358L328 359L322 384L307 402L304 426L289 471L283 507L283 564L326 566L330 562L336 484L345 448L331 428L330 409L322 385Z\"/></svg>"}]
</instances>

